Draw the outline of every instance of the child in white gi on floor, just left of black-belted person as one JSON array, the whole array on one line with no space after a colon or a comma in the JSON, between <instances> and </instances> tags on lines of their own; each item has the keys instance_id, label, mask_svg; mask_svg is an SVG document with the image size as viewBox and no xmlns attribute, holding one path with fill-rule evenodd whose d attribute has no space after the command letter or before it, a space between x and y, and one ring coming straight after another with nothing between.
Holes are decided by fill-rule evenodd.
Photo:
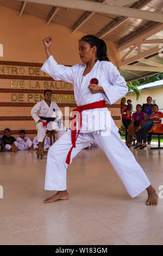
<instances>
[{"instance_id":1,"label":"child in white gi on floor, just left of black-belted person","mask_svg":"<svg viewBox=\"0 0 163 256\"><path fill-rule=\"evenodd\" d=\"M28 138L25 134L24 130L21 130L20 136L16 138L16 141L18 142L18 149L19 150L27 150L32 149L32 141L30 141L30 138Z\"/></svg>"}]
</instances>

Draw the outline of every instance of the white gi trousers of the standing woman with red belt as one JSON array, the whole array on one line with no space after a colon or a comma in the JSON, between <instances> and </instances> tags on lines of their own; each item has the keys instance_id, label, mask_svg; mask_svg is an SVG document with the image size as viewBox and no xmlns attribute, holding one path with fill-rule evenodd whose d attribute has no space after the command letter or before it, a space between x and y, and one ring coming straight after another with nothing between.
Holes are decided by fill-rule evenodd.
<instances>
[{"instance_id":1,"label":"white gi trousers of the standing woman with red belt","mask_svg":"<svg viewBox=\"0 0 163 256\"><path fill-rule=\"evenodd\" d=\"M108 157L131 197L136 197L149 187L150 182L145 172L143 172L140 164L136 162L133 153L122 141L116 125L111 126L109 136L102 136L101 133L97 132L79 133L76 148L73 148L71 153L70 163L80 150L92 143L93 139ZM67 189L66 169L68 164L65 161L71 147L71 130L68 130L49 148L45 190L64 191Z\"/></svg>"}]
</instances>

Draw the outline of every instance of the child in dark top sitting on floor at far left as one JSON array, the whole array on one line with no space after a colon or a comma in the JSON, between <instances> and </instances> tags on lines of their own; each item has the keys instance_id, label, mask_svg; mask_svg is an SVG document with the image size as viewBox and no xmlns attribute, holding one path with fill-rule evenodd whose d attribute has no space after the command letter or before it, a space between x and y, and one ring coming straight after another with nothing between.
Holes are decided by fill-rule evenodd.
<instances>
[{"instance_id":1,"label":"child in dark top sitting on floor at far left","mask_svg":"<svg viewBox=\"0 0 163 256\"><path fill-rule=\"evenodd\" d=\"M2 137L2 145L4 146L5 151L13 151L14 153L17 152L18 143L16 139L10 136L10 129L7 128L4 130L4 135Z\"/></svg>"}]
</instances>

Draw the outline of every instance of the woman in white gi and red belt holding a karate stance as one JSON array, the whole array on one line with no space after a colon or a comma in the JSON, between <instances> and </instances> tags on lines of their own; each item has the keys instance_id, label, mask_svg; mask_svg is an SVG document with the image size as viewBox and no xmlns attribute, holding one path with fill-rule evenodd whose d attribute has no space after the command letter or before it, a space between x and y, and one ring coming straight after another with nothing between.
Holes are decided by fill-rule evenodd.
<instances>
[{"instance_id":1,"label":"woman in white gi and red belt holding a karate stance","mask_svg":"<svg viewBox=\"0 0 163 256\"><path fill-rule=\"evenodd\" d=\"M93 35L80 39L79 55L84 64L77 64L71 68L59 65L54 60L49 52L52 45L51 37L43 39L43 44L48 59L41 70L56 81L74 84L74 97L77 106L80 106L77 111L82 115L82 126L80 126L81 119L77 119L71 126L71 130L69 129L60 137L48 151L45 190L58 192L43 202L51 203L59 199L68 199L67 166L80 150L95 139L120 176L130 196L136 197L147 189L146 204L156 205L158 196L154 188L139 163L136 162L134 155L123 143L118 127L111 118L108 108L105 107L105 101L111 105L128 92L126 81L106 56L105 42ZM90 129L87 120L92 118L92 112L99 113L96 115L99 122L97 127L95 124L98 120L95 117L95 122Z\"/></svg>"}]
</instances>

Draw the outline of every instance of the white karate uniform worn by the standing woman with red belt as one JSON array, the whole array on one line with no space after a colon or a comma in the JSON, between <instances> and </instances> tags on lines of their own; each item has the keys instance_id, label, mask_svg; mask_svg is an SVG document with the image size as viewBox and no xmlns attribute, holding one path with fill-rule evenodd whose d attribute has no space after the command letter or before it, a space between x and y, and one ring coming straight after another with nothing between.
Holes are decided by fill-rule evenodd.
<instances>
[{"instance_id":1,"label":"white karate uniform worn by the standing woman with red belt","mask_svg":"<svg viewBox=\"0 0 163 256\"><path fill-rule=\"evenodd\" d=\"M43 64L41 70L53 77L54 80L73 83L74 97L78 106L103 100L112 104L128 92L126 81L111 62L97 60L92 70L84 76L82 81L85 67L83 64L77 64L72 67L58 65L51 55ZM103 87L105 93L91 93L88 86L92 78L97 78L98 85ZM134 155L123 143L114 120L111 117L110 119L106 118L106 116L110 115L108 108L83 111L82 117L84 112L88 112L87 116L91 118L91 114L95 110L97 112L102 111L99 115L98 128L95 127L96 118L91 131L87 121L89 119L82 119L82 128L83 126L84 128L80 130L76 148L72 149L70 163L80 150L86 148L88 143L93 143L95 139L120 176L130 196L136 197L150 185L150 182L139 163L136 162ZM108 128L110 129L109 133ZM71 130L68 130L49 148L45 190L66 190L66 169L68 166L66 157L71 147Z\"/></svg>"}]
</instances>

